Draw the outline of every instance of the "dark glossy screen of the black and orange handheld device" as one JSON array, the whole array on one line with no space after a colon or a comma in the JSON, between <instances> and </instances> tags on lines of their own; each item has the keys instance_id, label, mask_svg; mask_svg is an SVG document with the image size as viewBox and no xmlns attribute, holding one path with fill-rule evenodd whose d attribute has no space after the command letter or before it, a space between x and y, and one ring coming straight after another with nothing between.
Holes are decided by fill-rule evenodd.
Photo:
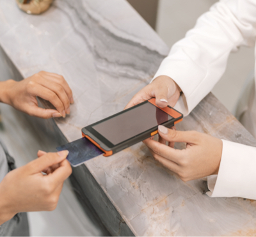
<instances>
[{"instance_id":1,"label":"dark glossy screen of the black and orange handheld device","mask_svg":"<svg viewBox=\"0 0 256 237\"><path fill-rule=\"evenodd\" d=\"M170 119L173 117L152 103L146 102L112 118L104 119L104 121L93 125L92 128L116 145Z\"/></svg>"}]
</instances>

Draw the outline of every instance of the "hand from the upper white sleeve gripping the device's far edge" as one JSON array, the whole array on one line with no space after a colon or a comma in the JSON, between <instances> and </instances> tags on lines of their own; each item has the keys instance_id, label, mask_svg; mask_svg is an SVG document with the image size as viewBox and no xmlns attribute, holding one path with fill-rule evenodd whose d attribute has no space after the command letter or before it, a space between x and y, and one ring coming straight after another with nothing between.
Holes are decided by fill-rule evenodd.
<instances>
[{"instance_id":1,"label":"hand from the upper white sleeve gripping the device's far edge","mask_svg":"<svg viewBox=\"0 0 256 237\"><path fill-rule=\"evenodd\" d=\"M174 107L179 99L180 91L179 86L173 79L162 75L136 93L125 106L125 109L149 100L152 97L156 98L156 105L161 108L167 105Z\"/></svg>"}]
</instances>

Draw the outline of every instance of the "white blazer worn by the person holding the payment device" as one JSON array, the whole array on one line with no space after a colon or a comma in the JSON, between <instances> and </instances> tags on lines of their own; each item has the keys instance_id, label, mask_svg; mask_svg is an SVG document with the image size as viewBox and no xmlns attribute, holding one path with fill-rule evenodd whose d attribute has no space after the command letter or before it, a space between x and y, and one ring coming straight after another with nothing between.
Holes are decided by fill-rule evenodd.
<instances>
[{"instance_id":1,"label":"white blazer worn by the person holding the payment device","mask_svg":"<svg viewBox=\"0 0 256 237\"><path fill-rule=\"evenodd\" d=\"M221 0L173 45L154 79L167 75L177 82L183 95L175 108L186 116L221 78L230 52L240 45L255 47L255 39L256 0ZM248 120L256 137L256 100L252 100ZM211 197L256 199L256 148L223 140L218 176L207 179Z\"/></svg>"}]
</instances>

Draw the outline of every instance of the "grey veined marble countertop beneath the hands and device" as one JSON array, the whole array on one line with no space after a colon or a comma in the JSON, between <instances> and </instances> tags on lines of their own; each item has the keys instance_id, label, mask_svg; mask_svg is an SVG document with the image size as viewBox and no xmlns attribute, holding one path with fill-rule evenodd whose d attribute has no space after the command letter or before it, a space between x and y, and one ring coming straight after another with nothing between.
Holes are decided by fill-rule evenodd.
<instances>
[{"instance_id":1,"label":"grey veined marble countertop beneath the hands and device","mask_svg":"<svg viewBox=\"0 0 256 237\"><path fill-rule=\"evenodd\" d=\"M2 0L0 22L1 47L23 77L45 70L60 73L70 84L71 114L55 120L68 141L81 137L83 126L121 111L168 54L124 0L56 0L40 16ZM177 127L256 144L211 94ZM142 143L85 165L136 236L256 233L255 201L208 197L204 180L180 181Z\"/></svg>"}]
</instances>

